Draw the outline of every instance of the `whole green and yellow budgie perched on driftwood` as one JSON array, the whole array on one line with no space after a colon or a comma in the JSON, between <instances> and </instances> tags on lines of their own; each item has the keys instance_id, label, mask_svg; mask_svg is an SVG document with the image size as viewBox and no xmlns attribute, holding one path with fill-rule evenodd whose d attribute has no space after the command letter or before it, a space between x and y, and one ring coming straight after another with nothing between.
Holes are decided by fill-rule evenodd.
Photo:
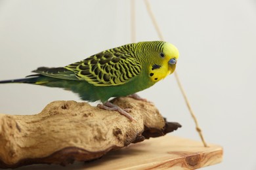
<instances>
[{"instance_id":1,"label":"whole green and yellow budgie perched on driftwood","mask_svg":"<svg viewBox=\"0 0 256 170\"><path fill-rule=\"evenodd\" d=\"M98 107L115 110L134 120L129 109L110 103L110 97L131 95L153 86L175 71L179 51L169 42L146 41L105 50L66 67L39 67L35 75L0 83L28 83L64 88Z\"/></svg>"}]
</instances>

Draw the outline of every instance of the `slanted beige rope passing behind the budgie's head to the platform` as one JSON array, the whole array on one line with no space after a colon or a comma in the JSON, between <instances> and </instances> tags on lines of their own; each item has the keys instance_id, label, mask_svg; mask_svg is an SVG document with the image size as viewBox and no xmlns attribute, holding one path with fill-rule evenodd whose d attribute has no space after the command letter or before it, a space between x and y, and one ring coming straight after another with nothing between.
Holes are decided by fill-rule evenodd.
<instances>
[{"instance_id":1,"label":"slanted beige rope passing behind the budgie's head to the platform","mask_svg":"<svg viewBox=\"0 0 256 170\"><path fill-rule=\"evenodd\" d=\"M163 41L163 34L161 33L160 28L159 28L159 26L158 26L158 23L156 22L156 18L155 18L155 16L154 16L153 12L152 12L152 9L151 9L151 7L150 7L150 3L149 3L148 0L144 0L144 3L145 3L145 5L146 5L146 9L148 10L148 14L150 15L150 18L151 18L151 20L152 20L152 22L153 22L153 24L154 24L154 27L155 27L155 29L156 29L156 31L157 31L157 33L158 33L158 37ZM194 122L195 122L195 124L196 124L196 131L198 131L198 133L199 133L199 135L200 135L200 138L201 138L201 140L202 140L203 145L204 145L205 147L207 147L207 144L205 143L205 140L204 140L204 138L203 138L202 130L200 129L200 127L199 127L199 125L198 125L198 120L196 119L196 116L195 116L195 114L194 114L194 111L192 110L192 107L191 107L191 105L190 105L190 103L189 103L189 101L188 101L188 97L186 96L186 93L185 93L185 91L184 91L184 88L182 87L181 80L179 79L179 76L178 76L177 71L175 71L174 75L175 75L175 78L176 78L176 80L177 80L178 86L179 86L179 88L180 88L180 90L181 90L181 93L182 93L182 95L183 95L183 97L184 97L184 100L186 101L186 105L187 105L187 107L188 107L188 110L189 110L189 112L190 112L190 114L191 114L191 116L192 116L192 118L193 118L193 120L194 120Z\"/></svg>"}]
</instances>

